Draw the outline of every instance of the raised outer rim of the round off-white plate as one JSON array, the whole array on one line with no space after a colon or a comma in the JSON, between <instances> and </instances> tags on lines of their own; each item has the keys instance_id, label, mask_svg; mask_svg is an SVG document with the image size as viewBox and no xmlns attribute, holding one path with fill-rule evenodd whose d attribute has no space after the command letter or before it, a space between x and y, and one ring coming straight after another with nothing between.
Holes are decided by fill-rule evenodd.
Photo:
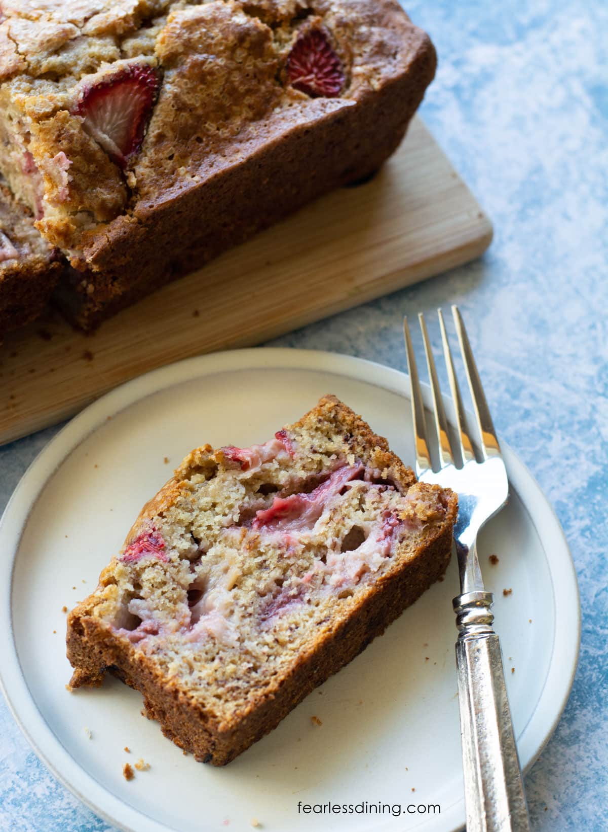
<instances>
[{"instance_id":1,"label":"raised outer rim of the round off-white plate","mask_svg":"<svg viewBox=\"0 0 608 832\"><path fill-rule=\"evenodd\" d=\"M0 520L0 548L7 553L7 557L2 557L0 560L0 586L2 586L0 645L4 648L3 653L6 656L0 666L0 688L17 725L39 759L47 765L57 780L60 780L96 815L126 832L139 832L144 828L150 832L170 832L171 827L127 805L82 770L77 760L67 752L57 736L53 734L42 713L38 711L22 674L12 629L11 603L12 574L22 532L49 478L62 461L91 433L94 433L108 416L136 404L161 389L183 384L185 381L200 376L243 369L299 369L337 374L387 389L408 401L410 399L407 374L398 369L351 355L322 350L264 347L227 350L183 359L121 384L72 418L42 448L27 468ZM423 387L426 388L423 389L425 404L429 406L430 390L426 385ZM448 410L451 409L450 405L451 403L447 401ZM551 549L549 569L555 605L555 638L541 696L518 740L520 757L527 770L550 740L570 695L580 647L581 608L576 570L556 513L541 487L536 483L536 479L517 454L504 442L502 442L502 453L507 464L509 479L536 527L545 552L547 548ZM533 507L532 510L530 506ZM559 655L556 654L557 643L560 644ZM543 709L542 706L546 707ZM537 725L539 722L540 725ZM82 787L77 785L78 780L83 784ZM86 791L84 785L87 786ZM446 820L451 825L449 829L446 827L446 832L456 832L462 829L463 808L462 801L450 807L449 815L454 815L454 810L460 811L462 820L458 820L456 825L453 825L456 818L453 817L450 821L448 817ZM142 821L145 826L141 825Z\"/></svg>"}]
</instances>

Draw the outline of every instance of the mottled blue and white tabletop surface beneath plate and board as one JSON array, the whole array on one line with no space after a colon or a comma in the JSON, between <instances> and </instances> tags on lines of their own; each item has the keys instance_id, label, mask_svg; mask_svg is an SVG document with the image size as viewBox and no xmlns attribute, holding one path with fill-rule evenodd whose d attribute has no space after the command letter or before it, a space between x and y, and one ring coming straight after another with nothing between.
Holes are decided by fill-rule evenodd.
<instances>
[{"instance_id":1,"label":"mottled blue and white tabletop surface beneath plate and board","mask_svg":"<svg viewBox=\"0 0 608 832\"><path fill-rule=\"evenodd\" d=\"M423 116L492 217L492 248L473 265L273 344L405 369L402 314L461 306L497 428L555 506L581 587L574 689L526 777L533 828L606 830L608 3L407 5L440 55ZM56 432L0 448L0 508ZM57 784L3 701L0 829L110 829Z\"/></svg>"}]
</instances>

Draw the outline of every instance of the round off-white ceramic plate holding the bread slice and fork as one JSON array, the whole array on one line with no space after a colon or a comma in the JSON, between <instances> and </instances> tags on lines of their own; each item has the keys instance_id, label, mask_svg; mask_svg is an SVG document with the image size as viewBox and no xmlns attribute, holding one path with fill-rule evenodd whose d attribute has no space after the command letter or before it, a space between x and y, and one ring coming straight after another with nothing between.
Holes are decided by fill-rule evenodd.
<instances>
[{"instance_id":1,"label":"round off-white ceramic plate holding the bread slice and fork","mask_svg":"<svg viewBox=\"0 0 608 832\"><path fill-rule=\"evenodd\" d=\"M407 390L403 374L340 355L289 349L205 355L104 396L32 464L0 527L2 683L37 754L98 815L146 832L238 832L251 830L253 819L268 832L462 826L453 560L444 582L222 769L182 755L156 722L140 716L141 696L120 682L75 694L65 689L62 606L72 607L96 586L141 505L190 448L262 442L333 392L407 461ZM521 760L530 765L571 688L579 604L556 517L530 473L503 450L512 497L482 533L480 552L487 587L496 594ZM488 562L491 554L497 566ZM512 594L503 597L503 589ZM123 764L139 757L151 769L126 782ZM403 814L371 807L359 814L378 802L401 805ZM299 803L310 812L299 812ZM314 810L327 804L346 805L347 812Z\"/></svg>"}]
</instances>

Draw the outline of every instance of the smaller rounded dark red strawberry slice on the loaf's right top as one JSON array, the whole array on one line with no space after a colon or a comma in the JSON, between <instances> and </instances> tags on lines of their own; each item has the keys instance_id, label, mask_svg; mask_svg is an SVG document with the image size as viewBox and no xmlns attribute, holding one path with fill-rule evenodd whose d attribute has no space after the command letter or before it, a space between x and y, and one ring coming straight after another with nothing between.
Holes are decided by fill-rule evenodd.
<instances>
[{"instance_id":1,"label":"smaller rounded dark red strawberry slice on the loaf's right top","mask_svg":"<svg viewBox=\"0 0 608 832\"><path fill-rule=\"evenodd\" d=\"M291 86L308 96L339 96L344 69L323 29L309 29L299 36L287 58L287 75Z\"/></svg>"}]
</instances>

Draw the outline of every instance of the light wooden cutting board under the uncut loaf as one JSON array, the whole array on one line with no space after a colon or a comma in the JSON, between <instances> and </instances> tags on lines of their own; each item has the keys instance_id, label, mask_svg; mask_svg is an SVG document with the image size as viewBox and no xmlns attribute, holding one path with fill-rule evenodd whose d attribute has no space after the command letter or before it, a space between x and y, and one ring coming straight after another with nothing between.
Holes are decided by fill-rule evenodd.
<instances>
[{"instance_id":1,"label":"light wooden cutting board under the uncut loaf","mask_svg":"<svg viewBox=\"0 0 608 832\"><path fill-rule=\"evenodd\" d=\"M250 346L472 260L492 225L423 122L367 184L315 202L82 335L50 313L0 347L0 443L190 355ZM152 241L153 242L153 241Z\"/></svg>"}]
</instances>

